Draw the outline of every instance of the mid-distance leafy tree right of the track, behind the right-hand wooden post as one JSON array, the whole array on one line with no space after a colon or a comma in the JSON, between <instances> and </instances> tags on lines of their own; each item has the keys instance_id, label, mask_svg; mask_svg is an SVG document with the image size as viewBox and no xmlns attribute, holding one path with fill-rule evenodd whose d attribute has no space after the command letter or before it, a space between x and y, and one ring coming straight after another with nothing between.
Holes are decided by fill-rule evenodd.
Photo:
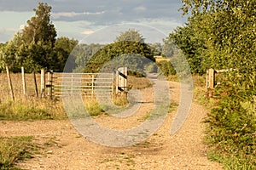
<instances>
[{"instance_id":1,"label":"mid-distance leafy tree right of the track, behind the right-hand wooden post","mask_svg":"<svg viewBox=\"0 0 256 170\"><path fill-rule=\"evenodd\" d=\"M203 74L206 73L207 69L211 66L209 64L209 59L207 58L207 54L205 51L206 41L202 36L201 31L201 18L203 16L197 15L196 17L189 18L189 23L183 27L177 27L169 37L166 37L165 44L167 44L168 51L172 52L173 49L172 44L174 42L177 44L177 47L183 51L183 54L186 56L186 59L190 66L190 71L192 73ZM171 45L169 45L171 44ZM165 53L164 53L165 54ZM169 54L169 55L172 55ZM168 55L167 55L168 56Z\"/></svg>"}]
</instances>

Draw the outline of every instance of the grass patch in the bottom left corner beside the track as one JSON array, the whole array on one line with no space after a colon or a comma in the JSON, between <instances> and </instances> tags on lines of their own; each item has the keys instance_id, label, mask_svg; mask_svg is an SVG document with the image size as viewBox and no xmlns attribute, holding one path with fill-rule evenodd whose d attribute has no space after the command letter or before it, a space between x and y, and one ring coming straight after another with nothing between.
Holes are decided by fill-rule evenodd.
<instances>
[{"instance_id":1,"label":"grass patch in the bottom left corner beside the track","mask_svg":"<svg viewBox=\"0 0 256 170\"><path fill-rule=\"evenodd\" d=\"M35 147L31 142L32 137L0 137L0 169L18 169L16 161L31 157Z\"/></svg>"}]
</instances>

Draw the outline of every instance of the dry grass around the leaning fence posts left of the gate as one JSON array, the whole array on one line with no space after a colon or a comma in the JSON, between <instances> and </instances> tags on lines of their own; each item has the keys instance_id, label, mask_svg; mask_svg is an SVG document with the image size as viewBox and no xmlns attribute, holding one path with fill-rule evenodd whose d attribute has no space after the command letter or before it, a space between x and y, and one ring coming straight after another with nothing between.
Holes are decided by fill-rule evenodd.
<instances>
[{"instance_id":1,"label":"dry grass around the leaning fence posts left of the gate","mask_svg":"<svg viewBox=\"0 0 256 170\"><path fill-rule=\"evenodd\" d=\"M64 119L66 114L61 101L47 98L37 98L32 74L26 74L26 95L22 93L21 74L11 74L15 101L9 93L6 73L0 74L0 120L26 121L38 119ZM38 93L40 89L40 75L37 74Z\"/></svg>"}]
</instances>

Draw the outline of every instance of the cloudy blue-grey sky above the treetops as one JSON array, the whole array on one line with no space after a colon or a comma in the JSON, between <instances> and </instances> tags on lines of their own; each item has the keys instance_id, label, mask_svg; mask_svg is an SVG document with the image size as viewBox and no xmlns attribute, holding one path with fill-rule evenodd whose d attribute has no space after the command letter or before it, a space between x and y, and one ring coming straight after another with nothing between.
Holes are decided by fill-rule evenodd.
<instances>
[{"instance_id":1,"label":"cloudy blue-grey sky above the treetops","mask_svg":"<svg viewBox=\"0 0 256 170\"><path fill-rule=\"evenodd\" d=\"M0 0L0 42L22 31L38 2L52 7L58 37L85 43L112 42L120 32L135 29L145 42L161 42L186 17L180 0Z\"/></svg>"}]
</instances>

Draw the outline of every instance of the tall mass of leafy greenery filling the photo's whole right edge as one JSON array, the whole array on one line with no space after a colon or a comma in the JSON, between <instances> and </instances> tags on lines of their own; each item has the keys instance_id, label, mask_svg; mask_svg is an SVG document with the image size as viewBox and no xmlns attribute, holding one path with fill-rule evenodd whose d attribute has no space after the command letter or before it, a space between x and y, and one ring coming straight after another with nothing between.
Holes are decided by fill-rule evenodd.
<instances>
[{"instance_id":1,"label":"tall mass of leafy greenery filling the photo's whole right edge","mask_svg":"<svg viewBox=\"0 0 256 170\"><path fill-rule=\"evenodd\" d=\"M193 14L189 27L184 29L194 33L205 46L203 50L195 48L201 56L201 65L236 69L224 73L225 79L215 90L218 102L209 114L211 128L207 139L227 168L253 169L256 162L253 100L256 94L256 3L183 0L182 9L184 13ZM189 48L189 42L184 44ZM197 55L193 55L196 59Z\"/></svg>"}]
</instances>

